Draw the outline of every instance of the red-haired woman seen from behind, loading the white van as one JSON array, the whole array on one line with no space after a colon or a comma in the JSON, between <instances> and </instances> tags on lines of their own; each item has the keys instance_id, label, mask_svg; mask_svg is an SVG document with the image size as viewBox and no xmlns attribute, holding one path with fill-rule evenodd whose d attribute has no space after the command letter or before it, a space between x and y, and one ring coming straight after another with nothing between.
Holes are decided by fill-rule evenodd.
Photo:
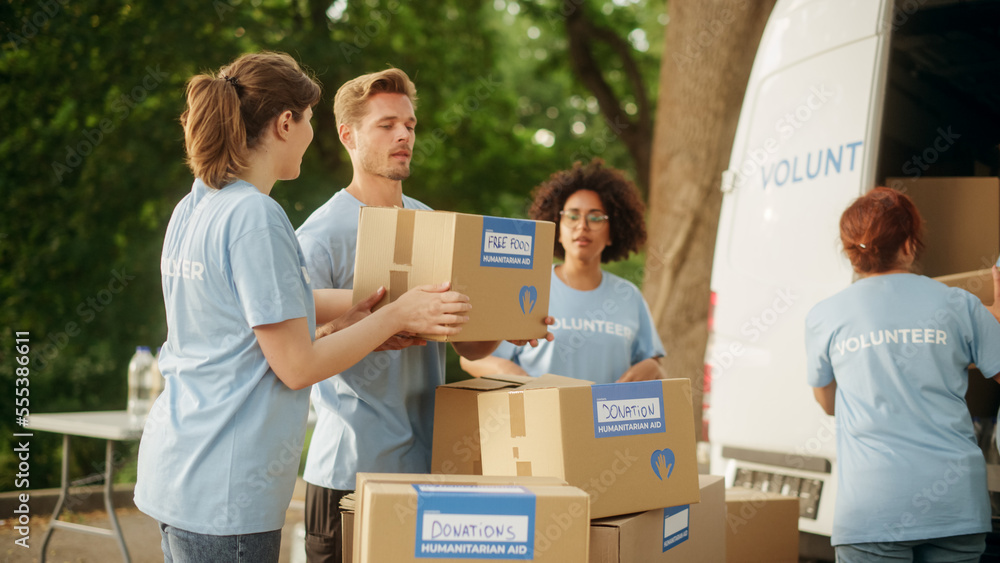
<instances>
[{"instance_id":1,"label":"red-haired woman seen from behind, loading the white van","mask_svg":"<svg viewBox=\"0 0 1000 563\"><path fill-rule=\"evenodd\" d=\"M991 529L965 392L970 363L1000 378L1000 271L984 307L912 272L922 236L905 194L858 198L840 238L860 279L806 317L809 385L837 417L838 562L979 561Z\"/></svg>"}]
</instances>

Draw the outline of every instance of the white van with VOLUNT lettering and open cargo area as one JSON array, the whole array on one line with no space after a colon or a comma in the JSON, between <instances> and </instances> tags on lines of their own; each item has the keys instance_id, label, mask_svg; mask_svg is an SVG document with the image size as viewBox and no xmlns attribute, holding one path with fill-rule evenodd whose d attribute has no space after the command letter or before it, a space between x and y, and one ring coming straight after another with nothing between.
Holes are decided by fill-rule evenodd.
<instances>
[{"instance_id":1,"label":"white van with VOLUNT lettering and open cargo area","mask_svg":"<svg viewBox=\"0 0 1000 563\"><path fill-rule=\"evenodd\" d=\"M836 429L804 319L855 279L842 211L876 185L929 193L924 273L991 295L998 29L996 1L779 0L764 30L723 175L706 418L712 473L799 497L802 531L832 532Z\"/></svg>"}]
</instances>

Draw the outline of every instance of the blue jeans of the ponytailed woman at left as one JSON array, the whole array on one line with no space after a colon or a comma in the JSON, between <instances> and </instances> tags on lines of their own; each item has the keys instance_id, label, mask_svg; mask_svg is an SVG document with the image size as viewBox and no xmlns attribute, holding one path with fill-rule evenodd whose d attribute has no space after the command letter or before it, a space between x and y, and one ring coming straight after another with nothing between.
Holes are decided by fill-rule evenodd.
<instances>
[{"instance_id":1,"label":"blue jeans of the ponytailed woman at left","mask_svg":"<svg viewBox=\"0 0 1000 563\"><path fill-rule=\"evenodd\" d=\"M281 530L209 536L159 525L164 563L277 563L281 552Z\"/></svg>"}]
</instances>

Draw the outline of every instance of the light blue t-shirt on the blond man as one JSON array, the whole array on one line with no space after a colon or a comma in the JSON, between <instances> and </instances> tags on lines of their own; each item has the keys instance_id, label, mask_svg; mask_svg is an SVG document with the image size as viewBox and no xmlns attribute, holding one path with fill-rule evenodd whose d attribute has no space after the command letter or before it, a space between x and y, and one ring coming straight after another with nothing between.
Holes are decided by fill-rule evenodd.
<instances>
[{"instance_id":1,"label":"light blue t-shirt on the blond man","mask_svg":"<svg viewBox=\"0 0 1000 563\"><path fill-rule=\"evenodd\" d=\"M358 215L363 204L347 190L299 227L313 289L352 289ZM403 196L407 209L430 209ZM372 352L354 367L312 388L316 428L304 478L320 487L353 490L357 473L428 473L434 390L444 383L445 344Z\"/></svg>"}]
</instances>

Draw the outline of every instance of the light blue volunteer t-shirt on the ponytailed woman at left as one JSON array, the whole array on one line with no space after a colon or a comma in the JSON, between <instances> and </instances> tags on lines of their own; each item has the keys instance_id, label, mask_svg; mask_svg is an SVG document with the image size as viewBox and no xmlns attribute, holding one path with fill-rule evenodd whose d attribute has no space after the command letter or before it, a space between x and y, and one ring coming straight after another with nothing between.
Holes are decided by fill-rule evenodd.
<instances>
[{"instance_id":1,"label":"light blue volunteer t-shirt on the ponytailed woman at left","mask_svg":"<svg viewBox=\"0 0 1000 563\"><path fill-rule=\"evenodd\" d=\"M195 180L160 262L163 393L139 446L136 506L200 534L277 530L292 498L309 393L271 370L253 327L316 313L288 217L244 181Z\"/></svg>"}]
</instances>

